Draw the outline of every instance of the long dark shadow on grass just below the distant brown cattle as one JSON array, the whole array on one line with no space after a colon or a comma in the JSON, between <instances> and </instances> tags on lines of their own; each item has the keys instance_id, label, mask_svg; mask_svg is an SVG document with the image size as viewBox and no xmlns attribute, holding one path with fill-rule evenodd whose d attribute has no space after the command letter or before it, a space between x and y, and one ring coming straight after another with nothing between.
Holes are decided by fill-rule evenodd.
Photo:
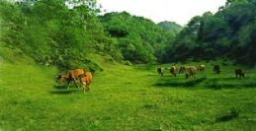
<instances>
[{"instance_id":1,"label":"long dark shadow on grass just below the distant brown cattle","mask_svg":"<svg viewBox=\"0 0 256 131\"><path fill-rule=\"evenodd\" d=\"M192 81L188 81L188 82L161 82L161 83L157 83L154 86L156 87L195 87L196 85L199 85L201 83L203 83L204 81L206 81L207 78L200 78L200 79L194 79ZM187 81L187 80L184 80Z\"/></svg>"}]
</instances>

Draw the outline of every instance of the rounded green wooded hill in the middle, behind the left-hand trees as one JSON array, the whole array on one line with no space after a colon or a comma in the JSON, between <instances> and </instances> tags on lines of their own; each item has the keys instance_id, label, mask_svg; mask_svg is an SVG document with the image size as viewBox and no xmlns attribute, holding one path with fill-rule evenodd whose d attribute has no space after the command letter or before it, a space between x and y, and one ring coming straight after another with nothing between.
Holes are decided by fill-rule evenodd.
<instances>
[{"instance_id":1,"label":"rounded green wooded hill in the middle, behind the left-hand trees","mask_svg":"<svg viewBox=\"0 0 256 131\"><path fill-rule=\"evenodd\" d=\"M166 32L151 20L131 16L127 12L108 13L101 17L106 32L117 38L118 47L126 60L148 63L167 59L166 47L174 40L174 33Z\"/></svg>"}]
</instances>

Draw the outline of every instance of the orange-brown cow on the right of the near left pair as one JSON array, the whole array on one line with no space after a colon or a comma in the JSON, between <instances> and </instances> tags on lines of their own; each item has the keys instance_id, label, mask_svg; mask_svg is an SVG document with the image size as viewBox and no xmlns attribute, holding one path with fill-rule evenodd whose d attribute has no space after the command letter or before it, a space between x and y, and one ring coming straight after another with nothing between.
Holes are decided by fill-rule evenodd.
<instances>
[{"instance_id":1,"label":"orange-brown cow on the right of the near left pair","mask_svg":"<svg viewBox=\"0 0 256 131\"><path fill-rule=\"evenodd\" d=\"M87 91L90 91L90 85L93 80L93 76L90 72L86 72L85 74L79 75L80 81L83 84L83 92L85 93L85 85L87 88Z\"/></svg>"}]
</instances>

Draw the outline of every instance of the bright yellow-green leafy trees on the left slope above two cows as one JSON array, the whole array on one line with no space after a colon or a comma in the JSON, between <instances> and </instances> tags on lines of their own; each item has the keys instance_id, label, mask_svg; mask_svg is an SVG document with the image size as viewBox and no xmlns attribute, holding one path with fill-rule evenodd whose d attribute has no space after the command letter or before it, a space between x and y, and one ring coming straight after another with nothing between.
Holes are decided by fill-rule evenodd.
<instances>
[{"instance_id":1,"label":"bright yellow-green leafy trees on the left slope above two cows","mask_svg":"<svg viewBox=\"0 0 256 131\"><path fill-rule=\"evenodd\" d=\"M98 21L95 0L1 0L1 44L19 47L43 65L101 69L89 54L123 59Z\"/></svg>"}]
</instances>

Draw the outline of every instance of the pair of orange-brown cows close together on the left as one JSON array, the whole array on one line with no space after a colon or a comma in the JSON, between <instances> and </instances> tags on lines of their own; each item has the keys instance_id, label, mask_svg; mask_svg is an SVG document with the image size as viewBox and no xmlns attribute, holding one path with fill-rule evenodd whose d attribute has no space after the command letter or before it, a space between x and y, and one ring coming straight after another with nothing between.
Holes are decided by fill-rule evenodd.
<instances>
[{"instance_id":1,"label":"pair of orange-brown cows close together on the left","mask_svg":"<svg viewBox=\"0 0 256 131\"><path fill-rule=\"evenodd\" d=\"M90 72L85 72L83 69L74 69L69 70L67 73L56 76L56 82L64 82L67 81L69 89L70 82L74 82L76 87L79 88L78 84L76 83L76 80L80 80L81 84L83 85L83 92L85 93L85 85L87 88L87 91L90 91L90 85L92 82L92 74Z\"/></svg>"}]
</instances>

